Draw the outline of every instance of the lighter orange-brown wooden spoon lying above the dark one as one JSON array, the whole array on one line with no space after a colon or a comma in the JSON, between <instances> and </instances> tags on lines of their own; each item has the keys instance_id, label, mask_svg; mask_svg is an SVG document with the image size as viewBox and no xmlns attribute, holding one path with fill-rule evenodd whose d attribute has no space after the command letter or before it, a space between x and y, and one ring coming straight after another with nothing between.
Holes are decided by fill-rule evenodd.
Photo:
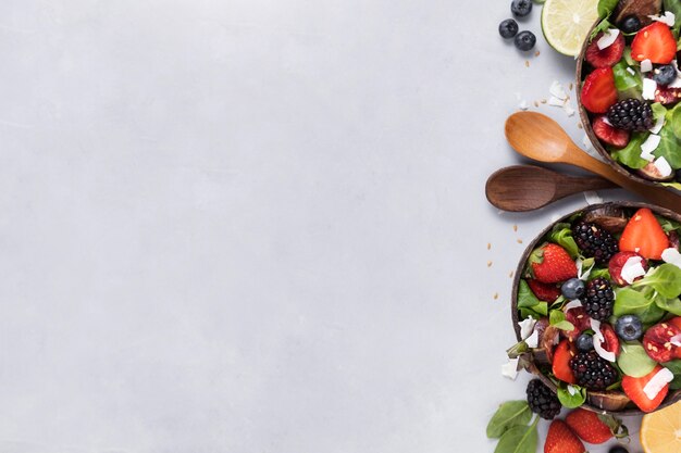
<instances>
[{"instance_id":1,"label":"lighter orange-brown wooden spoon lying above the dark one","mask_svg":"<svg viewBox=\"0 0 681 453\"><path fill-rule=\"evenodd\" d=\"M681 213L681 196L646 186L582 151L558 123L536 112L513 113L506 119L506 139L520 154L540 162L571 164L611 180L652 203Z\"/></svg>"}]
</instances>

